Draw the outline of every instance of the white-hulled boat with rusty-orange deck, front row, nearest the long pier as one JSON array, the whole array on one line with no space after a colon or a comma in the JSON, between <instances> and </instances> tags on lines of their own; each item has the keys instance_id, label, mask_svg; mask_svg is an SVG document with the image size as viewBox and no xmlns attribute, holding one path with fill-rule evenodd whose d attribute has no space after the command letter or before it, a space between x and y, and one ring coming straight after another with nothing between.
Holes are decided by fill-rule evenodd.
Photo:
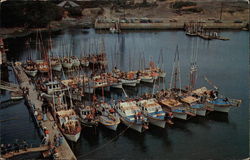
<instances>
[{"instance_id":1,"label":"white-hulled boat with rusty-orange deck, front row, nearest the long pier","mask_svg":"<svg viewBox=\"0 0 250 160\"><path fill-rule=\"evenodd\" d=\"M73 109L56 112L56 121L63 135L70 141L77 142L81 135L81 123Z\"/></svg>"}]
</instances>

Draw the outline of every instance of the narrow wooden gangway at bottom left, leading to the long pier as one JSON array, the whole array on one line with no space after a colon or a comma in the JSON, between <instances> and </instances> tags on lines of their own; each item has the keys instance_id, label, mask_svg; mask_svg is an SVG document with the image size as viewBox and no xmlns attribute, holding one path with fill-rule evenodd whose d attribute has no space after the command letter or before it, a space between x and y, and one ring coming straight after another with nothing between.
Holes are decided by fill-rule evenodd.
<instances>
[{"instance_id":1,"label":"narrow wooden gangway at bottom left, leading to the long pier","mask_svg":"<svg viewBox=\"0 0 250 160\"><path fill-rule=\"evenodd\" d=\"M14 156L22 155L22 154L27 154L27 153L32 153L32 152L42 152L42 151L47 151L49 150L49 146L39 146L39 147L34 147L34 148L27 148L26 150L19 150L19 152L8 152L4 155L2 155L2 158L12 158Z\"/></svg>"}]
</instances>

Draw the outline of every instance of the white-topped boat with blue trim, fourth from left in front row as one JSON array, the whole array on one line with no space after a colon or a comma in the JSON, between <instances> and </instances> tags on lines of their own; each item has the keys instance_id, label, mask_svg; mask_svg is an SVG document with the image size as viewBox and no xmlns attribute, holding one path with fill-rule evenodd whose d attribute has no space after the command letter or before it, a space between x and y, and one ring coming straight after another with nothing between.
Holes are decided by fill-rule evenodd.
<instances>
[{"instance_id":1,"label":"white-topped boat with blue trim, fourth from left in front row","mask_svg":"<svg viewBox=\"0 0 250 160\"><path fill-rule=\"evenodd\" d=\"M136 105L136 101L118 102L114 108L126 126L140 133L148 129L148 120Z\"/></svg>"}]
</instances>

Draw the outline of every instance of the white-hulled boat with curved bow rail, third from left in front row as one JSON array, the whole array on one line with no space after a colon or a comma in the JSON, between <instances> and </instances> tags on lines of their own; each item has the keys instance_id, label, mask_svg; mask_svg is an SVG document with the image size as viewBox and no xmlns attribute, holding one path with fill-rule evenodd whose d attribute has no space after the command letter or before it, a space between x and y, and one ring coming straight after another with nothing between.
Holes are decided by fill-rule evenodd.
<instances>
[{"instance_id":1,"label":"white-hulled boat with curved bow rail, third from left in front row","mask_svg":"<svg viewBox=\"0 0 250 160\"><path fill-rule=\"evenodd\" d=\"M116 131L120 124L120 117L117 115L115 110L110 104L102 102L96 105L97 111L101 113L98 115L99 123L104 125L106 128Z\"/></svg>"}]
</instances>

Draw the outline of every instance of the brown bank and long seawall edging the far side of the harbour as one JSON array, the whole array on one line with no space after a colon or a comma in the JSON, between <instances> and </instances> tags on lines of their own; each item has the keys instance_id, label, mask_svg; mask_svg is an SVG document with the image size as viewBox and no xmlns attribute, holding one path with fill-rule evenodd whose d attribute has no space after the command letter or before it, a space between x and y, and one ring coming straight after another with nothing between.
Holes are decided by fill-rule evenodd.
<instances>
[{"instance_id":1,"label":"brown bank and long seawall edging the far side of the harbour","mask_svg":"<svg viewBox=\"0 0 250 160\"><path fill-rule=\"evenodd\" d=\"M185 22L164 22L164 23L120 23L121 30L184 30ZM63 20L60 22L56 22L55 24L51 24L50 27L47 28L0 28L0 37L3 39L7 38L17 38L17 37L25 37L36 31L40 30L41 32L57 32L67 28L72 27L89 27L95 30L107 30L110 27L113 27L115 23L84 23L78 20ZM249 23L234 23L234 22L223 22L223 23L212 23L206 22L204 23L204 27L210 30L245 30L249 31ZM248 28L247 28L248 27Z\"/></svg>"}]
</instances>

